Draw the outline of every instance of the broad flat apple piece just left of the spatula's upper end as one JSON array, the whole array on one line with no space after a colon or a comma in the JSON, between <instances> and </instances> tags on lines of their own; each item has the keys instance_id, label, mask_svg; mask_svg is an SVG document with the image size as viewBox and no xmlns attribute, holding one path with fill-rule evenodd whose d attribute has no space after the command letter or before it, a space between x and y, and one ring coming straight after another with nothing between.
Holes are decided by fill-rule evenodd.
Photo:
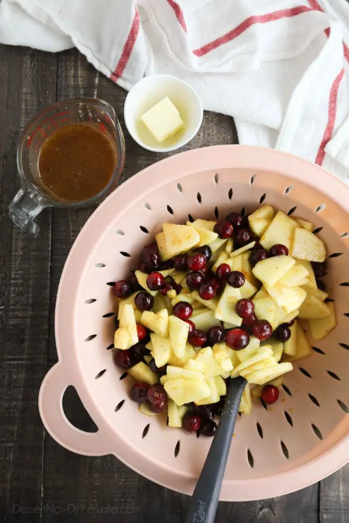
<instances>
[{"instance_id":1,"label":"broad flat apple piece just left of the spatula's upper end","mask_svg":"<svg viewBox=\"0 0 349 523\"><path fill-rule=\"evenodd\" d=\"M164 389L177 406L200 401L209 396L211 392L206 381L184 380L183 378L166 381Z\"/></svg>"}]
</instances>

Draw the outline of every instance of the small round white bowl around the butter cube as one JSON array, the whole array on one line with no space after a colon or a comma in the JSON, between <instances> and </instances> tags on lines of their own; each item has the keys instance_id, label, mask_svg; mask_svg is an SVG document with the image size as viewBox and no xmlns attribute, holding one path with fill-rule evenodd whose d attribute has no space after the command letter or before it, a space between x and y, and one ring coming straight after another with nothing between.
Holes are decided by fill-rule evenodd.
<instances>
[{"instance_id":1,"label":"small round white bowl around the butter cube","mask_svg":"<svg viewBox=\"0 0 349 523\"><path fill-rule=\"evenodd\" d=\"M155 140L140 117L168 96L184 121L184 127L163 143ZM195 90L186 82L168 74L145 76L128 93L123 116L131 137L139 145L158 153L174 151L185 145L198 132L202 122L202 104Z\"/></svg>"}]
</instances>

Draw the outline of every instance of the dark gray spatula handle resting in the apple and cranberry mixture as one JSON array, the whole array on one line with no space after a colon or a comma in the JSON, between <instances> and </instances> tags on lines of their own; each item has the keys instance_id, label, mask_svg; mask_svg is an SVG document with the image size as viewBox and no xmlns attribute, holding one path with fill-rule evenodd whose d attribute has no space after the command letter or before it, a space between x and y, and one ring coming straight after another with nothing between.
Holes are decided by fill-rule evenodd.
<instances>
[{"instance_id":1,"label":"dark gray spatula handle resting in the apple and cranberry mixture","mask_svg":"<svg viewBox=\"0 0 349 523\"><path fill-rule=\"evenodd\" d=\"M226 403L213 437L204 467L193 492L185 523L213 523L239 404L247 381L242 376L230 380Z\"/></svg>"}]
</instances>

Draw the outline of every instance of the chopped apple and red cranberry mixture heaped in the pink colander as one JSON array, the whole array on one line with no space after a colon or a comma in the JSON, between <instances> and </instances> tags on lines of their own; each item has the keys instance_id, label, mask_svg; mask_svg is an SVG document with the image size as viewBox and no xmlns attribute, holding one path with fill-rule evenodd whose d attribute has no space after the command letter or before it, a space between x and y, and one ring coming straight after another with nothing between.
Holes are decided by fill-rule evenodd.
<instances>
[{"instance_id":1,"label":"chopped apple and red cranberry mixture heaped in the pink colander","mask_svg":"<svg viewBox=\"0 0 349 523\"><path fill-rule=\"evenodd\" d=\"M230 378L274 403L292 361L335 327L323 282L326 250L313 224L269 205L244 217L164 223L138 270L119 280L115 363L135 380L131 399L170 427L212 436ZM297 319L296 319L297 318ZM252 385L252 386L251 386Z\"/></svg>"}]
</instances>

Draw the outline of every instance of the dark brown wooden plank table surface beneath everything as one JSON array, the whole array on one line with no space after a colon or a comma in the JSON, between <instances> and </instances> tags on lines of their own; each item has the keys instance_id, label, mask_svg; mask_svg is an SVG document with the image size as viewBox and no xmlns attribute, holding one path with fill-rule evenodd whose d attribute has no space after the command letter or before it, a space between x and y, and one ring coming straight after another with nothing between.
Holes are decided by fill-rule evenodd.
<instances>
[{"instance_id":1,"label":"dark brown wooden plank table surface beneath everything","mask_svg":"<svg viewBox=\"0 0 349 523\"><path fill-rule=\"evenodd\" d=\"M45 433L39 417L39 386L57 361L53 318L58 282L67 254L93 209L45 210L35 240L13 228L7 213L19 188L19 135L36 111L55 100L97 96L114 106L126 138L121 182L162 156L133 142L122 117L126 92L99 75L77 51L49 54L3 46L0 64L0 522L181 523L188 497L143 479L112 456L88 458L63 449ZM206 112L186 149L225 143L237 143L233 120ZM74 390L65 394L64 408L77 427L93 430ZM24 507L29 513L22 513ZM216 519L219 523L348 520L348 467L288 496L220 503Z\"/></svg>"}]
</instances>

